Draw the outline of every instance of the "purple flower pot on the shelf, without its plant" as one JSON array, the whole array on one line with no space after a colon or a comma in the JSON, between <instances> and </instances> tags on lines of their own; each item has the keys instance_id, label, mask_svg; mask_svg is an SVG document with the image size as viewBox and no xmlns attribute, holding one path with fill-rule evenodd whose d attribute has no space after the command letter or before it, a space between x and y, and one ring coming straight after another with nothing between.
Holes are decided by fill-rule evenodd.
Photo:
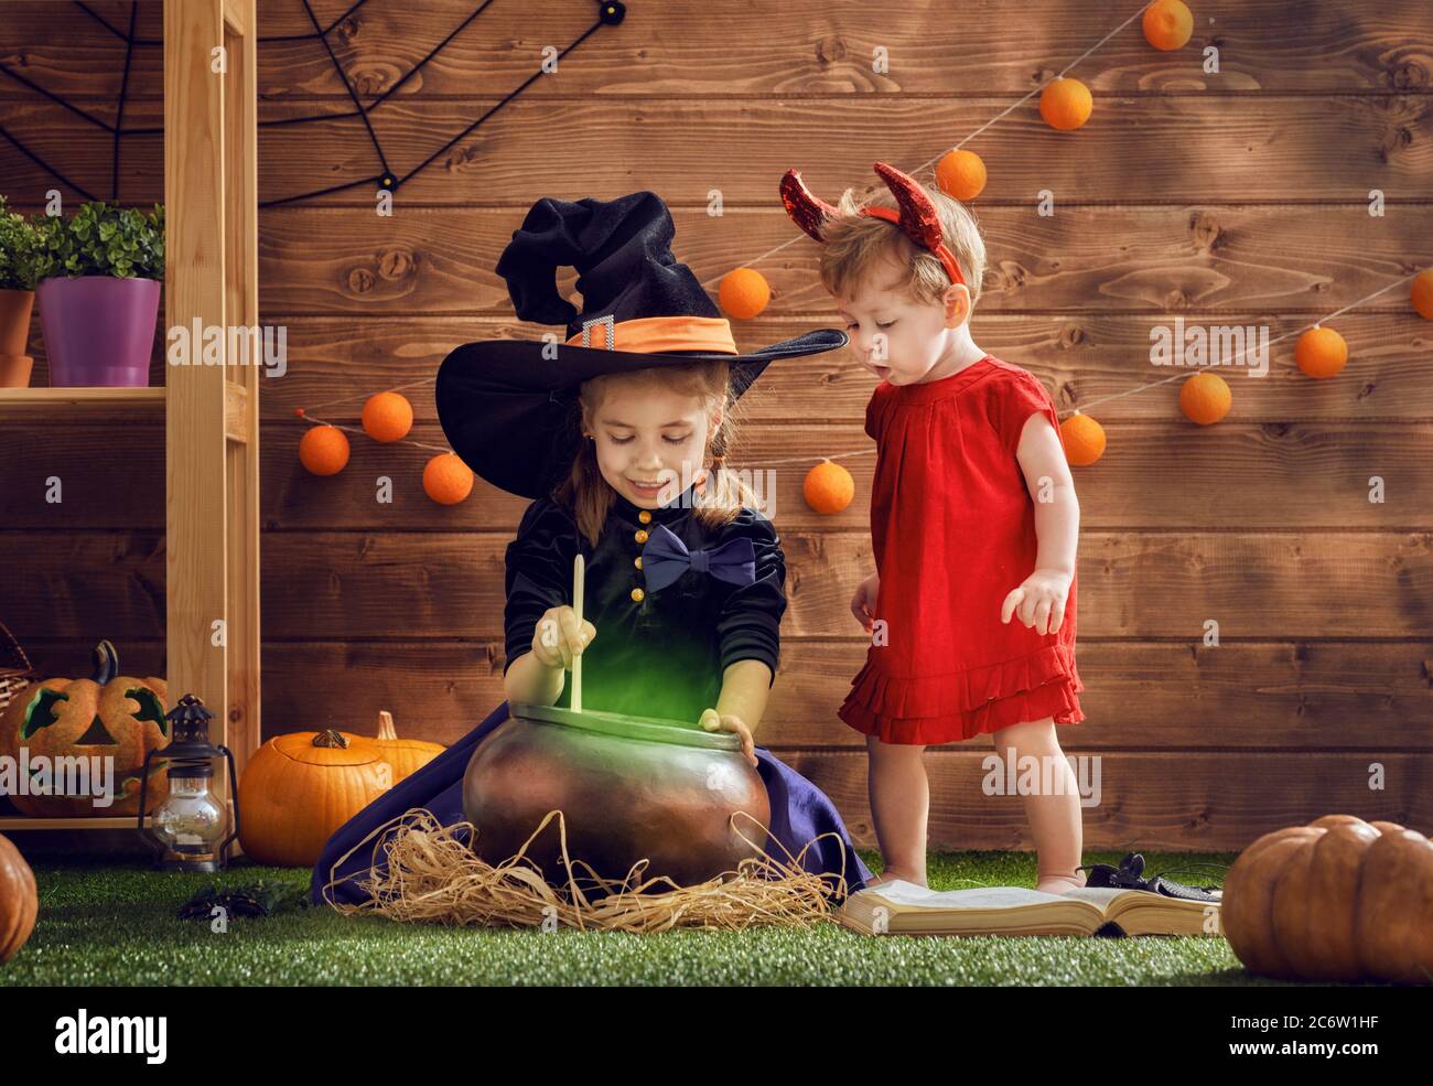
<instances>
[{"instance_id":1,"label":"purple flower pot on the shelf, without its plant","mask_svg":"<svg viewBox=\"0 0 1433 1086\"><path fill-rule=\"evenodd\" d=\"M52 388L149 384L159 279L42 279L34 298Z\"/></svg>"}]
</instances>

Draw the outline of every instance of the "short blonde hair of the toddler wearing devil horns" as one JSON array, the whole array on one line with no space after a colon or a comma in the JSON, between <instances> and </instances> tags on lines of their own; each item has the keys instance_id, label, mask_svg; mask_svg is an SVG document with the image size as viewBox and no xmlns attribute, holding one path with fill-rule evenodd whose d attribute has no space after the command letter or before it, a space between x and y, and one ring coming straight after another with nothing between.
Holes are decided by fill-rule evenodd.
<instances>
[{"instance_id":1,"label":"short blonde hair of the toddler wearing devil horns","mask_svg":"<svg viewBox=\"0 0 1433 1086\"><path fill-rule=\"evenodd\" d=\"M946 248L960 265L960 274L970 291L970 305L980 298L980 279L984 277L984 241L976 216L954 196L940 189L921 185L940 216L940 229ZM841 193L837 215L821 225L821 282L837 298L851 294L851 288L868 277L881 259L894 259L907 269L897 288L919 302L939 302L950 289L950 277L940 258L920 248L894 222L861 215L861 208L900 209L890 189L877 183L873 189L857 195L856 189Z\"/></svg>"}]
</instances>

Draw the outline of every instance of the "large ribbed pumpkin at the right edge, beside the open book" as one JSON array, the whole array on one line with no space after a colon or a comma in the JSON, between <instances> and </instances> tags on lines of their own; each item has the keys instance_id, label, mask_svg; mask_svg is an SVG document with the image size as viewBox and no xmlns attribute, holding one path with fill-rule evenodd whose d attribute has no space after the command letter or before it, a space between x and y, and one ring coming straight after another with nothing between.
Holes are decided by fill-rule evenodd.
<instances>
[{"instance_id":1,"label":"large ribbed pumpkin at the right edge, beside the open book","mask_svg":"<svg viewBox=\"0 0 1433 1086\"><path fill-rule=\"evenodd\" d=\"M1433 842L1394 822L1324 815L1234 861L1230 947L1281 980L1433 981Z\"/></svg>"}]
</instances>

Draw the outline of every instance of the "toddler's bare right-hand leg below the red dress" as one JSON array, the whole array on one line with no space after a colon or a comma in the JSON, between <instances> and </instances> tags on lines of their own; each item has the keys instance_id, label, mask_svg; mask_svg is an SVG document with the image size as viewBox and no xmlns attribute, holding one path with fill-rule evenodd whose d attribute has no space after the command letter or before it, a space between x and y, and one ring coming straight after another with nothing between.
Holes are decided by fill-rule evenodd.
<instances>
[{"instance_id":1,"label":"toddler's bare right-hand leg below the red dress","mask_svg":"<svg viewBox=\"0 0 1433 1086\"><path fill-rule=\"evenodd\" d=\"M1040 767L1040 785L1025 801L1025 817L1030 822L1030 837L1035 838L1036 890L1059 894L1065 890L1085 885L1085 875L1076 871L1083 845L1083 830L1079 807L1079 782L1075 771L1060 751L1055 738L1055 719L1025 721L992 732L996 754L1002 761L1015 758L1016 779L1020 777L1023 759L1036 758ZM1012 754L1013 748L1013 754ZM1046 774L1049 767L1049 774ZM1049 777L1049 794L1042 794Z\"/></svg>"}]
</instances>

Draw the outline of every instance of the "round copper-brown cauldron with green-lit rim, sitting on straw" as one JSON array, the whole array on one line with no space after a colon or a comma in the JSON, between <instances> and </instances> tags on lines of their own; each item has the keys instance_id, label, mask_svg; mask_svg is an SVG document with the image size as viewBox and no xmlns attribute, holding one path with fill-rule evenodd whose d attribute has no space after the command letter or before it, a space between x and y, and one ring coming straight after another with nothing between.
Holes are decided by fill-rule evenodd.
<instances>
[{"instance_id":1,"label":"round copper-brown cauldron with green-lit rim, sitting on straw","mask_svg":"<svg viewBox=\"0 0 1433 1086\"><path fill-rule=\"evenodd\" d=\"M517 852L543 817L560 809L579 877L586 874L579 860L620 880L645 858L642 881L666 875L678 885L759 855L771 822L767 787L732 732L524 703L510 705L509 719L473 751L463 809L477 827L473 848L490 864ZM734 824L738 811L757 822ZM556 818L526 855L549 883L566 878Z\"/></svg>"}]
</instances>

